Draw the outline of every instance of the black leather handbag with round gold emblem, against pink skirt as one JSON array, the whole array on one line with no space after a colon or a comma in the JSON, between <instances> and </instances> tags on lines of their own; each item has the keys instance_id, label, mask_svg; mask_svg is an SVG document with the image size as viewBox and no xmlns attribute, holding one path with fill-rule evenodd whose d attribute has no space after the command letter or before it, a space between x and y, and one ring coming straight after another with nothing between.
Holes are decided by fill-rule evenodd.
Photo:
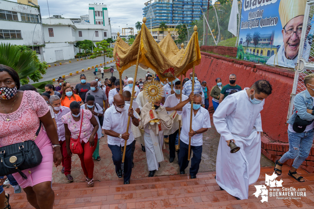
<instances>
[{"instance_id":1,"label":"black leather handbag with round gold emblem, against pink skirt","mask_svg":"<svg viewBox=\"0 0 314 209\"><path fill-rule=\"evenodd\" d=\"M27 176L22 170L41 164L42 155L34 142L40 132L40 128L41 122L33 140L0 147L0 176L19 172L22 178L26 180Z\"/></svg>"}]
</instances>

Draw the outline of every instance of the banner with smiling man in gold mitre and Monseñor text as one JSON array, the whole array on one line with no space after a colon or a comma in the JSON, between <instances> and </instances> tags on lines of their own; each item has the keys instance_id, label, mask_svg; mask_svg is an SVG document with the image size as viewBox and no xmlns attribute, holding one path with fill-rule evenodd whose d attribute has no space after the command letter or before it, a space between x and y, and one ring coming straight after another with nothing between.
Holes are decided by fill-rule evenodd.
<instances>
[{"instance_id":1,"label":"banner with smiling man in gold mitre and Monse\u00f1or text","mask_svg":"<svg viewBox=\"0 0 314 209\"><path fill-rule=\"evenodd\" d=\"M306 0L243 0L237 58L294 68Z\"/></svg>"}]
</instances>

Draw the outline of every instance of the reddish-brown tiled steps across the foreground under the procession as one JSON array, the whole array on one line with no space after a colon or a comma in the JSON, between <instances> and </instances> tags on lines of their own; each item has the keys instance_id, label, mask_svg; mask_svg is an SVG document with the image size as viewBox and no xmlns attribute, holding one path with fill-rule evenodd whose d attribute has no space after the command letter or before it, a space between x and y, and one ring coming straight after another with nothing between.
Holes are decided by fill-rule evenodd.
<instances>
[{"instance_id":1,"label":"reddish-brown tiled steps across the foreground under the procession","mask_svg":"<svg viewBox=\"0 0 314 209\"><path fill-rule=\"evenodd\" d=\"M283 187L306 189L306 197L301 199L277 200L268 197L268 202L261 202L250 196L247 200L236 200L226 191L220 191L214 179L215 172L199 173L196 179L189 175L156 176L131 179L129 185L123 180L95 182L93 188L86 183L53 184L55 192L55 209L124 209L124 208L214 208L214 209L259 209L259 208L314 208L314 174L298 170L306 180L299 183L287 175L288 166L283 166ZM265 184L265 174L272 175L273 167L261 167L261 173L255 185ZM279 177L277 179L280 179ZM256 191L249 187L249 195ZM10 193L12 208L32 208L26 200L25 193Z\"/></svg>"}]
</instances>

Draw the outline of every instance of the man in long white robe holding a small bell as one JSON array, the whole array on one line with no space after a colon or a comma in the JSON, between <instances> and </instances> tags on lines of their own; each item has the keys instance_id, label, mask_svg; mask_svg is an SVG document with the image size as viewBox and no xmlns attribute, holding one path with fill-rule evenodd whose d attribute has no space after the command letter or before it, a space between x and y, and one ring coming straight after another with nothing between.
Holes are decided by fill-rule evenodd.
<instances>
[{"instance_id":1,"label":"man in long white robe holding a small bell","mask_svg":"<svg viewBox=\"0 0 314 209\"><path fill-rule=\"evenodd\" d=\"M248 199L249 185L256 182L260 174L261 110L272 93L266 80L256 81L226 97L213 114L213 122L220 140L216 159L216 182L238 200ZM233 141L240 150L230 153Z\"/></svg>"}]
</instances>

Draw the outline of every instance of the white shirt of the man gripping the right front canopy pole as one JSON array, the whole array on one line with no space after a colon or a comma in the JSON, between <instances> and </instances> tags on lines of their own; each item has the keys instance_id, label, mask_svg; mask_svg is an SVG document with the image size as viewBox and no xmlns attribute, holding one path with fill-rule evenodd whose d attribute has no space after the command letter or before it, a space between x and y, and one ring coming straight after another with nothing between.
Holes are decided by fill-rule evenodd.
<instances>
[{"instance_id":1,"label":"white shirt of the man gripping the right front canopy pole","mask_svg":"<svg viewBox=\"0 0 314 209\"><path fill-rule=\"evenodd\" d=\"M191 104L186 104L182 111L177 111L179 115L182 115L182 129L180 139L185 144L189 144L189 132L190 132L190 116L191 116ZM200 107L196 115L192 114L192 130L197 131L201 128L211 128L209 112L204 107ZM191 138L192 146L203 145L203 133L195 134Z\"/></svg>"}]
</instances>

